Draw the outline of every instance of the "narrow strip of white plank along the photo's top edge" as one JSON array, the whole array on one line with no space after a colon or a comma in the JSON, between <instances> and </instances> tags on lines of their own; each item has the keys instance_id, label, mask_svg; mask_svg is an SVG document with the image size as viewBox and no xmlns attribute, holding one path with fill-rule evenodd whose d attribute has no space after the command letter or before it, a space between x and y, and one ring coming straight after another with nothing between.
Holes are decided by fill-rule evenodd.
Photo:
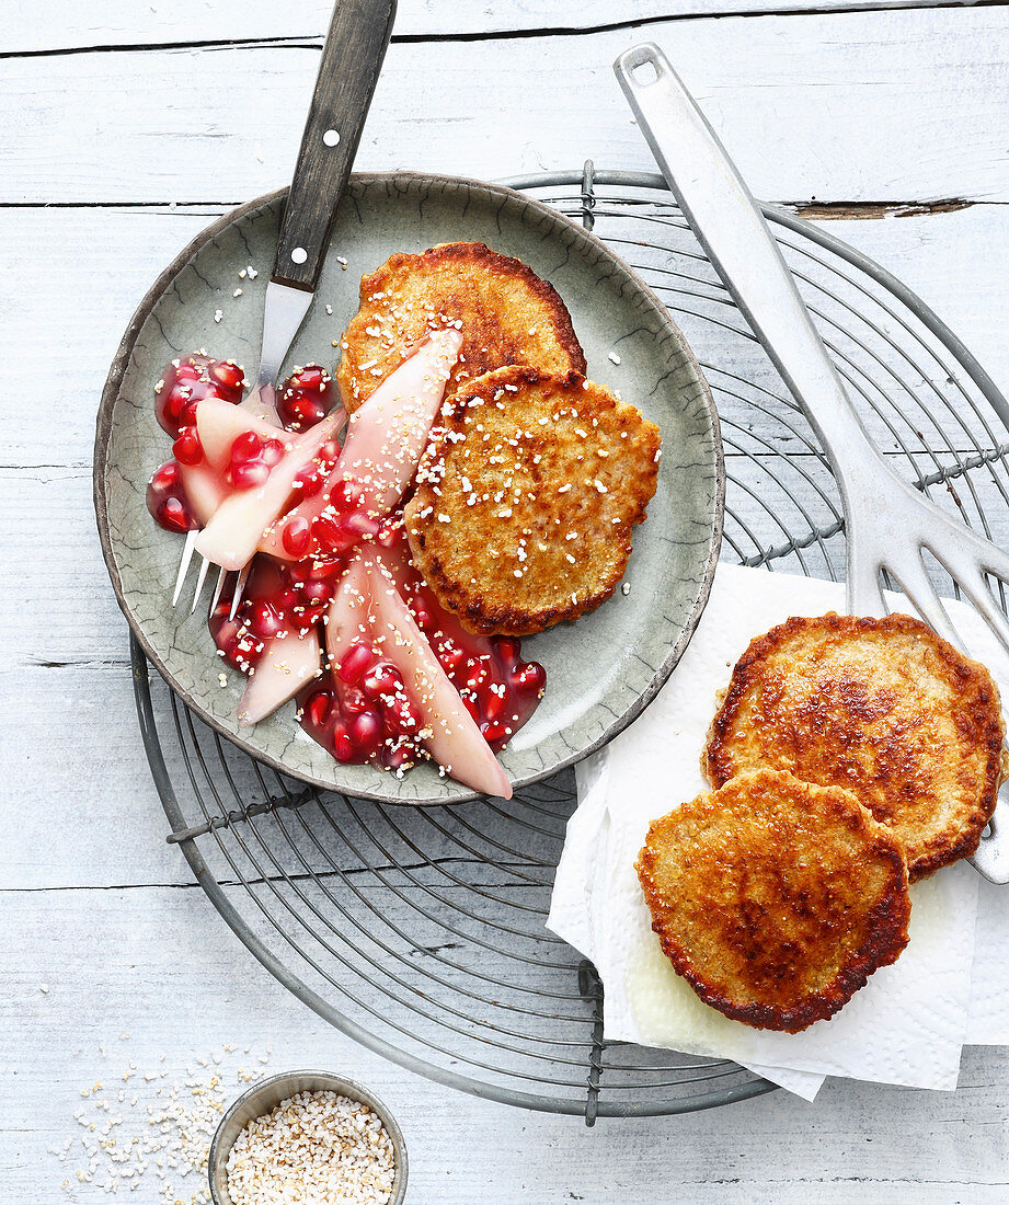
<instances>
[{"instance_id":1,"label":"narrow strip of white plank along the photo's top edge","mask_svg":"<svg viewBox=\"0 0 1009 1205\"><path fill-rule=\"evenodd\" d=\"M969 2L969 0L963 0ZM835 0L833 10L931 7L935 0ZM282 6L242 0L172 0L171 4L123 6L98 0L87 10L64 6L58 24L33 19L16 8L2 31L0 53L115 46L164 46L211 41L307 41L321 39L329 24L330 0L293 0ZM582 0L576 7L551 0L498 0L493 5L445 5L439 0L400 0L397 37L491 37L517 31L592 30L626 25L646 36L658 13L653 0ZM669 17L722 17L733 13L815 12L815 0L682 0L662 6Z\"/></svg>"}]
</instances>

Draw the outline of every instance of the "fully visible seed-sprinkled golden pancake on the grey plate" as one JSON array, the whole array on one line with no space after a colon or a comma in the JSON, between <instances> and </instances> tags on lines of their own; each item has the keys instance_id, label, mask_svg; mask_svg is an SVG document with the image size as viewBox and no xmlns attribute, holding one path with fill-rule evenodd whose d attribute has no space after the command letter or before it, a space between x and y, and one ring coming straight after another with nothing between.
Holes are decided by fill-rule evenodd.
<instances>
[{"instance_id":1,"label":"fully visible seed-sprinkled golden pancake on the grey plate","mask_svg":"<svg viewBox=\"0 0 1009 1205\"><path fill-rule=\"evenodd\" d=\"M441 605L514 636L599 606L655 494L655 423L605 386L523 365L469 382L446 411L405 509Z\"/></svg>"}]
</instances>

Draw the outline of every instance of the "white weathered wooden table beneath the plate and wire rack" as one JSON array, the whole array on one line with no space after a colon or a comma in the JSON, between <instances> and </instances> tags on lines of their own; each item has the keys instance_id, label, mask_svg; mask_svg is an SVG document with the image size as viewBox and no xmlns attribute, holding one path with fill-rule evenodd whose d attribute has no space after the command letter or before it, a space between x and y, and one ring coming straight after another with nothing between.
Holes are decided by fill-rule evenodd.
<instances>
[{"instance_id":1,"label":"white weathered wooden table beneath the plate and wire rack","mask_svg":"<svg viewBox=\"0 0 1009 1205\"><path fill-rule=\"evenodd\" d=\"M902 276L1009 389L1007 7L816 7L400 0L358 164L495 178L591 155L652 170L610 64L655 40L757 195ZM48 1152L76 1140L81 1088L129 1060L184 1075L234 1042L252 1058L270 1046L271 1069L372 1086L403 1124L418 1205L1004 1201L1004 1050L968 1050L952 1094L828 1082L813 1106L779 1092L587 1130L400 1071L239 946L164 842L94 531L93 421L158 270L210 218L288 180L329 0L5 10L0 1199L105 1199L77 1182L76 1150ZM152 1177L130 1195L162 1199Z\"/></svg>"}]
</instances>

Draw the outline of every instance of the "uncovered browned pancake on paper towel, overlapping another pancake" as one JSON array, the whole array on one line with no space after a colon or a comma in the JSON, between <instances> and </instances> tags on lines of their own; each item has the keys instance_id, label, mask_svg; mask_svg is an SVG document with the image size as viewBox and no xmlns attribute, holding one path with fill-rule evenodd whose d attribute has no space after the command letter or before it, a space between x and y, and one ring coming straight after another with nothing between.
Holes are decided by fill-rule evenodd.
<instances>
[{"instance_id":1,"label":"uncovered browned pancake on paper towel, overlapping another pancake","mask_svg":"<svg viewBox=\"0 0 1009 1205\"><path fill-rule=\"evenodd\" d=\"M653 821L637 869L676 971L757 1029L833 1016L908 944L901 842L839 787L740 774Z\"/></svg>"}]
</instances>

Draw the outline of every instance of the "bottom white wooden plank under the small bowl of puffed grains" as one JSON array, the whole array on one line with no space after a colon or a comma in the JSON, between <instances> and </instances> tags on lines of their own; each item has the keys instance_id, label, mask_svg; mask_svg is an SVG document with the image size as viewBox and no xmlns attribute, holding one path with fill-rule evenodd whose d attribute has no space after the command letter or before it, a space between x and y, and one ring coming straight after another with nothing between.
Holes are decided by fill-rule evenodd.
<instances>
[{"instance_id":1,"label":"bottom white wooden plank under the small bowl of puffed grains","mask_svg":"<svg viewBox=\"0 0 1009 1205\"><path fill-rule=\"evenodd\" d=\"M344 1038L246 953L199 890L0 899L7 939L0 1084L17 1103L0 1119L0 1165L11 1200L65 1199L59 1185L68 1170L70 1199L107 1200L101 1185L76 1182L81 1089L101 1080L115 1109L128 1113L115 1104L118 1087L142 1109L159 1084L183 1082L187 1066L225 1044L237 1046L222 1063L233 1094L239 1065L327 1066L372 1087L405 1133L418 1203L611 1205L634 1197L843 1205L857 1197L875 1205L909 1193L927 1205L993 1205L1004 1198L1003 1050L967 1051L956 1093L832 1081L814 1106L779 1092L716 1113L603 1119L588 1130L577 1118L458 1094ZM259 1064L260 1056L269 1062ZM137 1074L124 1084L130 1062ZM147 1082L145 1074L158 1078ZM136 1131L124 1122L118 1136ZM74 1156L60 1163L47 1148L68 1138ZM157 1186L148 1174L130 1199L154 1205Z\"/></svg>"}]
</instances>

